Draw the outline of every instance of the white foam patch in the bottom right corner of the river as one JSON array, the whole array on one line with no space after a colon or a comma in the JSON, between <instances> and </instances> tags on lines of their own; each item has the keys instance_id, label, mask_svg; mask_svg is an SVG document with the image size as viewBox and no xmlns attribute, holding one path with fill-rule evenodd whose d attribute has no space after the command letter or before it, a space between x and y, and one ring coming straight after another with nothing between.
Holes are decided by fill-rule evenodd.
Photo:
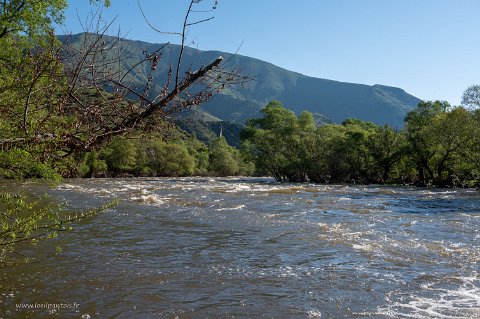
<instances>
[{"instance_id":1,"label":"white foam patch in the bottom right corner of the river","mask_svg":"<svg viewBox=\"0 0 480 319\"><path fill-rule=\"evenodd\" d=\"M387 301L400 301L379 308L376 314L390 318L480 318L480 279L475 276L458 280L461 280L462 284L454 289L438 288L433 283L422 285L422 292L428 296L390 296Z\"/></svg>"}]
</instances>

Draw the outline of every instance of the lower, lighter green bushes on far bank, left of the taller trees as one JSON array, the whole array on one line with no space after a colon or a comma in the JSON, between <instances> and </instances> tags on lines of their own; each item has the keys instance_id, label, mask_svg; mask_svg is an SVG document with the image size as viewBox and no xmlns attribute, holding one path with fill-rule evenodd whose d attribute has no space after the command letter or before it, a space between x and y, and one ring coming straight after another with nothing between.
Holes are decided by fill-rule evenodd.
<instances>
[{"instance_id":1,"label":"lower, lighter green bushes on far bank, left of the taller trees","mask_svg":"<svg viewBox=\"0 0 480 319\"><path fill-rule=\"evenodd\" d=\"M172 133L174 138L118 138L82 155L76 175L94 176L191 176L251 175L254 165L224 137L206 146L193 137Z\"/></svg>"}]
</instances>

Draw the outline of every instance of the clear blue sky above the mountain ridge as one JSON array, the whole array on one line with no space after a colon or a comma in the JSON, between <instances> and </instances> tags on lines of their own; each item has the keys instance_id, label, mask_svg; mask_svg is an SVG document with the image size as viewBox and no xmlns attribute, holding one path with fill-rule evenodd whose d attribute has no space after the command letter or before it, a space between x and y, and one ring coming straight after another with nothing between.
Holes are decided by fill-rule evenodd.
<instances>
[{"instance_id":1,"label":"clear blue sky above the mountain ridge","mask_svg":"<svg viewBox=\"0 0 480 319\"><path fill-rule=\"evenodd\" d=\"M180 31L189 0L138 0L156 28ZM198 9L215 0L202 0ZM82 32L95 7L70 0L65 27ZM136 0L111 0L105 18L127 39L178 43L145 22ZM480 0L218 0L215 18L192 26L201 50L235 52L305 75L400 87L425 100L459 104L480 84Z\"/></svg>"}]
</instances>

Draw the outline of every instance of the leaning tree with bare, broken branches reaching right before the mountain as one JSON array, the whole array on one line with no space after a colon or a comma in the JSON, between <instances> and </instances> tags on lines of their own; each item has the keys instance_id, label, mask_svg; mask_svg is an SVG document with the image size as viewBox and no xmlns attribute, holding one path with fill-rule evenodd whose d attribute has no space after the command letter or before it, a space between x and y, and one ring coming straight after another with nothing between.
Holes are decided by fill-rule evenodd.
<instances>
[{"instance_id":1,"label":"leaning tree with bare, broken branches reaching right before the mountain","mask_svg":"<svg viewBox=\"0 0 480 319\"><path fill-rule=\"evenodd\" d=\"M57 11L65 3L50 2L46 12L60 17L61 11ZM21 31L8 27L2 49L5 47L6 57L13 57L8 64L18 74L5 73L0 79L4 90L0 113L6 115L0 122L0 146L28 149L38 162L51 165L61 158L98 149L116 136L156 131L172 113L211 99L229 84L248 81L234 69L220 68L222 57L183 72L187 32L209 20L195 21L190 15L202 11L198 6L203 3L190 1L183 29L176 33L182 43L177 63L166 67L160 65L167 45L145 52L141 61L132 61L120 37L105 36L108 25L96 24L99 28L85 34L80 46L68 41L60 46L53 34L46 43L32 42ZM53 21L48 14L40 14L45 25ZM40 38L44 37L39 34ZM21 48L19 41L25 42ZM132 79L145 70L149 74L145 83L133 87ZM161 87L160 93L154 94L154 85Z\"/></svg>"}]
</instances>

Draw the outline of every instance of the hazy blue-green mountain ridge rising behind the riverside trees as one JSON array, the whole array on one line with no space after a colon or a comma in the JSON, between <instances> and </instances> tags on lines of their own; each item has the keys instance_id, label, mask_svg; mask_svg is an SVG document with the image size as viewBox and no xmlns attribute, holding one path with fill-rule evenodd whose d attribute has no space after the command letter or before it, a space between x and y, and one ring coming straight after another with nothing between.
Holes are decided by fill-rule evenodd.
<instances>
[{"instance_id":1,"label":"hazy blue-green mountain ridge rising behind the riverside trees","mask_svg":"<svg viewBox=\"0 0 480 319\"><path fill-rule=\"evenodd\" d=\"M84 36L77 34L68 40L60 36L60 39L75 44L80 43ZM131 61L139 61L145 57L145 52L153 52L163 46L133 40L122 42L124 53ZM166 46L162 50L158 71L168 72L170 65L175 66L179 50L178 45ZM400 128L405 115L420 102L420 99L400 88L308 77L255 58L220 51L185 48L181 74L190 67L196 70L219 56L224 57L223 64L226 67L239 67L242 74L254 80L244 86L225 89L208 103L202 104L202 116L218 120L243 124L249 118L259 117L259 111L268 102L278 100L297 114L303 110L318 113L317 117L323 118L324 122L331 120L340 123L347 118L358 118ZM145 66L135 78L135 85L141 87L150 72Z\"/></svg>"}]
</instances>

